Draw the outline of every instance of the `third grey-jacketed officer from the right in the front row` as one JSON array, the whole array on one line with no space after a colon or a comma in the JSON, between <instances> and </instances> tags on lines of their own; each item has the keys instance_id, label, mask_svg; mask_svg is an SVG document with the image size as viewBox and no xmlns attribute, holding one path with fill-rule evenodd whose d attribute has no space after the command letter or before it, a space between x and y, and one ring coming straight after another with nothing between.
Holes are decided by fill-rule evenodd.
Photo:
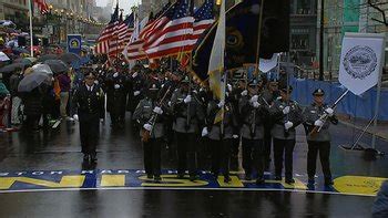
<instances>
[{"instance_id":1,"label":"third grey-jacketed officer from the right in the front row","mask_svg":"<svg viewBox=\"0 0 388 218\"><path fill-rule=\"evenodd\" d=\"M256 80L249 83L248 90L242 92L239 113L245 179L251 180L252 175L257 173L256 184L262 185L264 184L264 123L268 108L259 96Z\"/></svg>"}]
</instances>

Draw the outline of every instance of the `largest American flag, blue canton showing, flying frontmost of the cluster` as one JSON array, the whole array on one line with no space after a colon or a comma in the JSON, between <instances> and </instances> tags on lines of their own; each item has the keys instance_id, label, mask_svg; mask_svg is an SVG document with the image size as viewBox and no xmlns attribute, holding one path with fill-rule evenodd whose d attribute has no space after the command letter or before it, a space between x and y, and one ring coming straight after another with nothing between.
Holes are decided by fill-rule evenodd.
<instances>
[{"instance_id":1,"label":"largest American flag, blue canton showing, flying frontmost of the cluster","mask_svg":"<svg viewBox=\"0 0 388 218\"><path fill-rule=\"evenodd\" d=\"M149 32L143 45L149 59L191 51L194 18L190 8L187 0L178 0Z\"/></svg>"}]
</instances>

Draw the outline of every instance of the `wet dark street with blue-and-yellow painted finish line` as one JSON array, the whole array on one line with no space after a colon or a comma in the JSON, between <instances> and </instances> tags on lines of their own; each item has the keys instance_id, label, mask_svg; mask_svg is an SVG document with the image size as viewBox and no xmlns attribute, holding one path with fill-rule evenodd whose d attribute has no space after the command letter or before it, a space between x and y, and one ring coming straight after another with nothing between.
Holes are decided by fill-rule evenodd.
<instances>
[{"instance_id":1,"label":"wet dark street with blue-and-yellow painted finish line","mask_svg":"<svg viewBox=\"0 0 388 218\"><path fill-rule=\"evenodd\" d=\"M169 175L174 172L165 172L165 183L155 185L141 180L143 150L137 133L131 129L130 118L125 128L111 129L109 124L109 118L101 124L96 166L82 163L78 124L62 122L58 129L38 134L1 133L0 217L370 217L376 190L343 189L340 183L354 183L354 177L347 179L346 176L388 175L387 157L368 160L364 153L338 147L357 138L356 131L339 125L331 129L331 168L334 178L337 178L333 189L321 188L319 164L316 189L304 188L307 144L302 129L298 131L294 154L294 174L300 181L298 187L284 184L256 187L243 180L237 165L234 166L236 181L231 187L222 183L214 185L216 181L212 181L206 173L202 173L196 184L187 180L177 186L174 184L176 179ZM364 137L363 141L368 144L370 138ZM387 152L386 145L386 142L378 141L377 148ZM201 169L206 170L206 147L198 143L198 164ZM175 168L175 158L166 149L163 152L164 169ZM78 188L69 188L73 186L65 186L63 179L58 185L60 175L53 173L61 170L58 174L74 176L93 169L83 177L82 186L74 186ZM113 175L108 175L111 172ZM272 183L272 173L273 166L266 175L267 183ZM14 175L18 178L22 176L24 180L7 187ZM203 188L198 183L205 184ZM236 184L244 185L237 187Z\"/></svg>"}]
</instances>

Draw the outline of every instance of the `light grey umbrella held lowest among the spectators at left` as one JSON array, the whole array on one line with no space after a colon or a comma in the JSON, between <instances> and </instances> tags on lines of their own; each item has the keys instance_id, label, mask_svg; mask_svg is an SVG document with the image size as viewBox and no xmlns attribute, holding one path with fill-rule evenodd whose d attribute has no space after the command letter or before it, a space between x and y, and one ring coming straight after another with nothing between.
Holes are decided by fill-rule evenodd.
<instances>
[{"instance_id":1,"label":"light grey umbrella held lowest among the spectators at left","mask_svg":"<svg viewBox=\"0 0 388 218\"><path fill-rule=\"evenodd\" d=\"M19 83L19 92L31 92L42 83L50 84L51 77L48 74L40 72L32 72L27 74Z\"/></svg>"}]
</instances>

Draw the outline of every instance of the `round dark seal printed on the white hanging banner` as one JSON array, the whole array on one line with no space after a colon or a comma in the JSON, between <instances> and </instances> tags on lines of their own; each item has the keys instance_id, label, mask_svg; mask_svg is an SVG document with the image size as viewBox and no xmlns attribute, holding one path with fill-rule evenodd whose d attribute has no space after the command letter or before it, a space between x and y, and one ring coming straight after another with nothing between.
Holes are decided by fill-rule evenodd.
<instances>
[{"instance_id":1,"label":"round dark seal printed on the white hanging banner","mask_svg":"<svg viewBox=\"0 0 388 218\"><path fill-rule=\"evenodd\" d=\"M353 79L364 80L375 71L377 66L377 56L369 46L354 46L344 58L345 71Z\"/></svg>"}]
</instances>

